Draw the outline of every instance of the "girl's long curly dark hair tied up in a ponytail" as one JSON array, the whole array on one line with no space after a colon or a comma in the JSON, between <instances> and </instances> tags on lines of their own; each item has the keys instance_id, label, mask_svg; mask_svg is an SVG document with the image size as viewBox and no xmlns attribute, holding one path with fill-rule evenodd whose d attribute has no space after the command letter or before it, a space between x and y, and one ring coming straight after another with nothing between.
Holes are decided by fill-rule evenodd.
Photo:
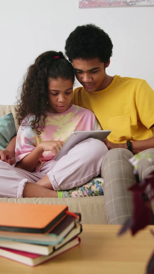
<instances>
[{"instance_id":1,"label":"girl's long curly dark hair tied up in a ponytail","mask_svg":"<svg viewBox=\"0 0 154 274\"><path fill-rule=\"evenodd\" d=\"M55 56L58 58L54 58ZM46 51L39 55L28 68L19 99L17 98L15 110L19 125L27 115L34 114L34 121L30 125L34 125L38 134L43 131L47 117L48 81L57 78L72 80L74 83L72 64L61 51Z\"/></svg>"}]
</instances>

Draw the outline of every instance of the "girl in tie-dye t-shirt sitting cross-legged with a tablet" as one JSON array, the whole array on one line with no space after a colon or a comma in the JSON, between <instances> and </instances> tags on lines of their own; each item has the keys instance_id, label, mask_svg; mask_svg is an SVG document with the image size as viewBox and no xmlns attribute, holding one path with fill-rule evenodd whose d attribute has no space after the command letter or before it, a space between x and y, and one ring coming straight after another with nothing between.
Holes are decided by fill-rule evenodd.
<instances>
[{"instance_id":1,"label":"girl in tie-dye t-shirt sitting cross-legged with a tablet","mask_svg":"<svg viewBox=\"0 0 154 274\"><path fill-rule=\"evenodd\" d=\"M54 160L72 131L101 129L93 112L71 104L74 77L73 67L62 52L44 52L28 68L16 107L20 125L16 165L9 166L18 174L16 187L10 185L14 197L103 194L102 182L88 182L100 174L103 156L108 151L103 142L89 138Z\"/></svg>"}]
</instances>

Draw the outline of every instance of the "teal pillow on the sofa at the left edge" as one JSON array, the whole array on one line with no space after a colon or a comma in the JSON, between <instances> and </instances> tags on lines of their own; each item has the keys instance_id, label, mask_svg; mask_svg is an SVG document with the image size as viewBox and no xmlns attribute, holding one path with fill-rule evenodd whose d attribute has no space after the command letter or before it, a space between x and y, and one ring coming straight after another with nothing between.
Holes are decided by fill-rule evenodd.
<instances>
[{"instance_id":1,"label":"teal pillow on the sofa at the left edge","mask_svg":"<svg viewBox=\"0 0 154 274\"><path fill-rule=\"evenodd\" d=\"M12 113L0 117L0 149L5 149L10 140L16 135Z\"/></svg>"}]
</instances>

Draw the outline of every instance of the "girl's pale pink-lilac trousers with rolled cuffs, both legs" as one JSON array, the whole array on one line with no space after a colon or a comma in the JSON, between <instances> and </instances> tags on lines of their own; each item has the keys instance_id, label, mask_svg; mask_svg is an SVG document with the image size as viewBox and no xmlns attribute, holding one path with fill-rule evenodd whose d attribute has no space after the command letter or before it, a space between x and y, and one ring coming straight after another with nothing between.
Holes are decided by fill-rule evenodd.
<instances>
[{"instance_id":1,"label":"girl's pale pink-lilac trousers with rolled cuffs, both legs","mask_svg":"<svg viewBox=\"0 0 154 274\"><path fill-rule=\"evenodd\" d=\"M68 190L88 182L100 174L108 149L93 138L75 145L59 161L45 162L40 172L28 172L0 160L0 197L22 197L27 182L35 183L48 175L54 190Z\"/></svg>"}]
</instances>

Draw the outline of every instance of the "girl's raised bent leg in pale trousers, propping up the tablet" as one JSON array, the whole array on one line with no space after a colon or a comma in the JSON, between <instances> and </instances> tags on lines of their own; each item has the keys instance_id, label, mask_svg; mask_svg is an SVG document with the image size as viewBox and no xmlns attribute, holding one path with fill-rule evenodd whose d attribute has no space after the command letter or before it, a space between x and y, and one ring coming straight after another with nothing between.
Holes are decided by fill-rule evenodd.
<instances>
[{"instance_id":1,"label":"girl's raised bent leg in pale trousers, propping up the tablet","mask_svg":"<svg viewBox=\"0 0 154 274\"><path fill-rule=\"evenodd\" d=\"M36 184L57 191L82 186L100 174L102 160L107 151L103 142L88 138L75 145L59 161L46 163L43 173L47 175ZM49 165L54 166L51 168Z\"/></svg>"}]
</instances>

